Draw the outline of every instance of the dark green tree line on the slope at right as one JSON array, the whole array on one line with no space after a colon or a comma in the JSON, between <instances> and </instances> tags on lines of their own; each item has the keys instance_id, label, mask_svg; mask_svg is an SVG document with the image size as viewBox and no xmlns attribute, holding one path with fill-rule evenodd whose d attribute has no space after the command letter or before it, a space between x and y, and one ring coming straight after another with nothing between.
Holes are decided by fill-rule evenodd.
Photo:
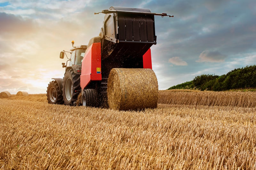
<instances>
[{"instance_id":1,"label":"dark green tree line on the slope at right","mask_svg":"<svg viewBox=\"0 0 256 170\"><path fill-rule=\"evenodd\" d=\"M248 88L256 88L256 65L237 68L221 76L215 74L198 75L192 81L172 86L169 89L224 91Z\"/></svg>"}]
</instances>

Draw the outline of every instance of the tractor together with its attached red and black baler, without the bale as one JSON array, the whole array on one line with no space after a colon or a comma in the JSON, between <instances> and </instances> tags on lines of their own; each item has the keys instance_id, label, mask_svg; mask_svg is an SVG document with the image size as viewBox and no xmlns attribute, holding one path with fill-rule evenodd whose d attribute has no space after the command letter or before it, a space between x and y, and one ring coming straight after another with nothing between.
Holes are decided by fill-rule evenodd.
<instances>
[{"instance_id":1,"label":"tractor together with its attached red and black baler, without the bale","mask_svg":"<svg viewBox=\"0 0 256 170\"><path fill-rule=\"evenodd\" d=\"M98 37L88 45L73 46L71 52L60 52L63 59L70 53L64 78L53 78L47 87L52 104L98 107L106 105L108 76L113 68L150 68L150 47L156 44L155 15L148 9L110 7ZM98 14L98 13L95 13ZM173 17L173 16L169 16ZM65 65L66 64L66 65ZM78 95L82 100L77 103Z\"/></svg>"}]
</instances>

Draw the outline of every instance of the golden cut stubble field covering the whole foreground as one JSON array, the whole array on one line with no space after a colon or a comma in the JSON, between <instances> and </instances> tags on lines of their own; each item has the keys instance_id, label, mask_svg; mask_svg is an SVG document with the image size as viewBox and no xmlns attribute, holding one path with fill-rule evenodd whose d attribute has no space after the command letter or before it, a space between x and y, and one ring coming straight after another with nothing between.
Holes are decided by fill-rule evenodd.
<instances>
[{"instance_id":1,"label":"golden cut stubble field covering the whole foreground","mask_svg":"<svg viewBox=\"0 0 256 170\"><path fill-rule=\"evenodd\" d=\"M52 105L45 94L0 99L0 169L255 169L255 106L191 100L116 111Z\"/></svg>"}]
</instances>

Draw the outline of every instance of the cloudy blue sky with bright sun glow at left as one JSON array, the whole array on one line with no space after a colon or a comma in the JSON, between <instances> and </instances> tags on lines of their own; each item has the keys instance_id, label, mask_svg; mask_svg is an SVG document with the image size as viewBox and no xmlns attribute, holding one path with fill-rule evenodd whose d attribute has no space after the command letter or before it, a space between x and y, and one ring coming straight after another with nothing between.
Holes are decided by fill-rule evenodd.
<instances>
[{"instance_id":1,"label":"cloudy blue sky with bright sun glow at left","mask_svg":"<svg viewBox=\"0 0 256 170\"><path fill-rule=\"evenodd\" d=\"M227 74L256 64L255 0L0 0L0 91L46 93L62 78L60 51L98 36L111 6L155 16L152 67L160 90L201 74Z\"/></svg>"}]
</instances>

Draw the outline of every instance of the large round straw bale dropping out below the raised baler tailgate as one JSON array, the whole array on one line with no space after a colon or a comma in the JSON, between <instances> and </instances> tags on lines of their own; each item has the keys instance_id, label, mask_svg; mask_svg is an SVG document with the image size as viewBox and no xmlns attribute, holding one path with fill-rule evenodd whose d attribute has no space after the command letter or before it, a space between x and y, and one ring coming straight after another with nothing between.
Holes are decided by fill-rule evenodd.
<instances>
[{"instance_id":1,"label":"large round straw bale dropping out below the raised baler tailgate","mask_svg":"<svg viewBox=\"0 0 256 170\"><path fill-rule=\"evenodd\" d=\"M156 74L144 68L113 68L108 76L108 105L115 110L156 108Z\"/></svg>"}]
</instances>

